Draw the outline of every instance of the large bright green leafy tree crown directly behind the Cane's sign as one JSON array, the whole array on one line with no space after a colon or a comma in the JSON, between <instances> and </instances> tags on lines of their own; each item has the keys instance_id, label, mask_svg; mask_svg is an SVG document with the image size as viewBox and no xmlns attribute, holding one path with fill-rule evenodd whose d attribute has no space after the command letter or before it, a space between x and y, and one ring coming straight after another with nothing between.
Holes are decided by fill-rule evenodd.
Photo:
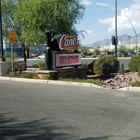
<instances>
[{"instance_id":1,"label":"large bright green leafy tree crown directly behind the Cane's sign","mask_svg":"<svg viewBox=\"0 0 140 140\"><path fill-rule=\"evenodd\" d=\"M74 24L83 17L79 0L24 0L18 2L14 22L22 23L21 39L30 44L46 43L48 31L76 34Z\"/></svg>"}]
</instances>

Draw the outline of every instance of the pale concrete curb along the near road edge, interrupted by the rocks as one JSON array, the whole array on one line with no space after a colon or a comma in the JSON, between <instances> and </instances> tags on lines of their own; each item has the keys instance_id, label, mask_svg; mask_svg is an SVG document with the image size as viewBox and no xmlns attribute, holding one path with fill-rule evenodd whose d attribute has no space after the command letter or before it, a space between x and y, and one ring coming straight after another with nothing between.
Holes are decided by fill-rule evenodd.
<instances>
[{"instance_id":1,"label":"pale concrete curb along the near road edge, interrupted by the rocks","mask_svg":"<svg viewBox=\"0 0 140 140\"><path fill-rule=\"evenodd\" d=\"M79 82L40 80L40 79L27 79L27 78L13 78L13 77L0 77L0 80L17 81L17 82L29 82L29 83L42 83L42 84L56 84L56 85L71 85L71 86L82 86L82 87L93 87L93 88L106 89L106 88L103 88L101 86L98 86L98 85L95 85L95 84L92 84L92 83L79 83ZM117 89L117 90L140 92L140 87L124 87L124 88L120 88L120 89Z\"/></svg>"}]
</instances>

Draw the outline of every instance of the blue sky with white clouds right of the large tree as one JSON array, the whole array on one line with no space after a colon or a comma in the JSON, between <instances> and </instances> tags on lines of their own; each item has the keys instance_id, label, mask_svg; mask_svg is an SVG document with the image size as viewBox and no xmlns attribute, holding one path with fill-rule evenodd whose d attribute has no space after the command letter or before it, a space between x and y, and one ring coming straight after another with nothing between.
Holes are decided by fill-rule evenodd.
<instances>
[{"instance_id":1,"label":"blue sky with white clouds right of the large tree","mask_svg":"<svg viewBox=\"0 0 140 140\"><path fill-rule=\"evenodd\" d=\"M84 5L84 18L76 24L78 31L84 30L82 45L111 39L115 35L115 7L117 7L117 35L135 36L140 33L140 0L80 0Z\"/></svg>"}]
</instances>

